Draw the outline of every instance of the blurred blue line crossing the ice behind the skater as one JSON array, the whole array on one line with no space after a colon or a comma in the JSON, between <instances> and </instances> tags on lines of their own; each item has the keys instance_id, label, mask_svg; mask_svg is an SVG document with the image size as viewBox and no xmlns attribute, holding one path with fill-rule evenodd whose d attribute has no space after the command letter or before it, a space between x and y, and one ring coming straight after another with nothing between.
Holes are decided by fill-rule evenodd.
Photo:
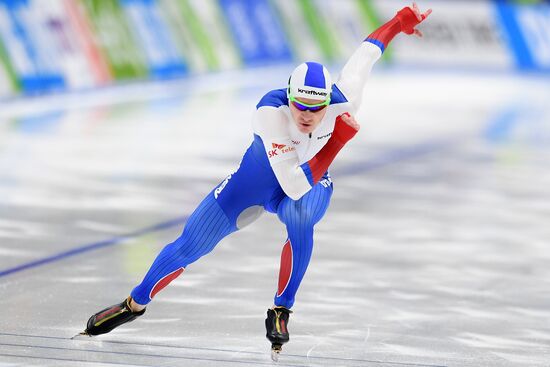
<instances>
[{"instance_id":1,"label":"blurred blue line crossing the ice behind the skater","mask_svg":"<svg viewBox=\"0 0 550 367\"><path fill-rule=\"evenodd\" d=\"M416 144L410 147L390 150L389 152L382 153L379 156L371 157L366 161L354 162L346 167L331 170L331 172L339 176L353 176L360 173L373 171L375 169L382 168L394 163L399 163L404 160L418 158L423 155L427 155L433 152L451 148L456 143L461 142L463 139L464 137L454 138L454 139L445 139L445 140L430 140L430 141ZM28 270L28 269L36 268L42 265L47 265L53 262L64 260L66 258L80 255L82 253L86 253L89 251L97 250L103 247L117 245L121 242L124 242L125 240L131 239L134 237L139 237L145 234L168 229L176 225L183 225L187 221L188 217L189 217L188 215L184 217L178 217L176 219L172 219L166 222L155 224L150 227L139 229L137 231L128 233L126 235L121 235L105 241L83 245L71 250L62 251L58 254L51 255L42 259L30 261L28 263L23 263L21 265L18 265L12 268L4 269L0 271L0 278L14 274L14 273L19 273L24 270Z\"/></svg>"}]
</instances>

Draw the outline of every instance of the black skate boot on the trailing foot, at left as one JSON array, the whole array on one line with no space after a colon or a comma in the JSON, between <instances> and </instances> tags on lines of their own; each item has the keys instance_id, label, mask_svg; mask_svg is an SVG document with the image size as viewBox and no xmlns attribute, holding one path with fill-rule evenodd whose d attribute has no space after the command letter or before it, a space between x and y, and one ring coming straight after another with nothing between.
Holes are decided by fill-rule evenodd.
<instances>
[{"instance_id":1,"label":"black skate boot on the trailing foot, at left","mask_svg":"<svg viewBox=\"0 0 550 367\"><path fill-rule=\"evenodd\" d=\"M133 321L145 313L145 309L139 312L133 312L130 309L131 297L128 297L121 303L107 307L92 315L88 320L86 330L79 335L95 336L106 334L117 326Z\"/></svg>"}]
</instances>

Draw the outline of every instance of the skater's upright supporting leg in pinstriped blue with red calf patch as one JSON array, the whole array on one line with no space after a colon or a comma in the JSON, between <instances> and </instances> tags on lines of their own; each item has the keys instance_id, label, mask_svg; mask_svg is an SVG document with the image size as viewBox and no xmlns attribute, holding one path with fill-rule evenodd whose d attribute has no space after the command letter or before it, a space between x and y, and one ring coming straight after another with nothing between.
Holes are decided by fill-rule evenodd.
<instances>
[{"instance_id":1,"label":"skater's upright supporting leg in pinstriped blue with red calf patch","mask_svg":"<svg viewBox=\"0 0 550 367\"><path fill-rule=\"evenodd\" d=\"M313 252L313 227L324 216L330 198L330 179L321 180L300 200L285 198L277 214L286 225L288 239L281 254L276 306L291 308Z\"/></svg>"}]
</instances>

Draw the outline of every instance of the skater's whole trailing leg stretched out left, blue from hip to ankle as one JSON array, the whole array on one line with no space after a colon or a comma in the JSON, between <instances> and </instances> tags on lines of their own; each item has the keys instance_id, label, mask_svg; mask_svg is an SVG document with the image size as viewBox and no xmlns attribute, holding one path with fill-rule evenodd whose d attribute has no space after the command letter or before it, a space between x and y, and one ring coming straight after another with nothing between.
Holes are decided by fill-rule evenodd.
<instances>
[{"instance_id":1,"label":"skater's whole trailing leg stretched out left, blue from hip to ankle","mask_svg":"<svg viewBox=\"0 0 550 367\"><path fill-rule=\"evenodd\" d=\"M265 168L245 153L237 171L223 180L191 214L182 235L157 256L142 283L131 293L135 302L148 304L183 269L208 254L225 236L245 227L263 212L262 203L276 185ZM273 176L273 179L274 176Z\"/></svg>"}]
</instances>

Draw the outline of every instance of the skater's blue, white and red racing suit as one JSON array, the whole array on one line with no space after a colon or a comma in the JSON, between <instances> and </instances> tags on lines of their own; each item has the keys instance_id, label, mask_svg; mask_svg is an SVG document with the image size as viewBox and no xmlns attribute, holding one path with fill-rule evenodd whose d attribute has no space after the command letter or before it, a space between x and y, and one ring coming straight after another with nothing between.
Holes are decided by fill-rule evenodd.
<instances>
[{"instance_id":1,"label":"skater's blue, white and red racing suit","mask_svg":"<svg viewBox=\"0 0 550 367\"><path fill-rule=\"evenodd\" d=\"M267 211L276 213L287 230L274 304L292 307L311 258L314 226L332 195L327 169L354 134L338 116L355 114L373 65L402 31L400 13L414 23L414 14L405 8L359 46L332 85L330 105L312 133L300 132L292 120L286 89L273 90L260 100L253 119L254 140L239 168L204 198L181 236L157 256L131 293L135 302L149 303L189 264Z\"/></svg>"}]
</instances>

